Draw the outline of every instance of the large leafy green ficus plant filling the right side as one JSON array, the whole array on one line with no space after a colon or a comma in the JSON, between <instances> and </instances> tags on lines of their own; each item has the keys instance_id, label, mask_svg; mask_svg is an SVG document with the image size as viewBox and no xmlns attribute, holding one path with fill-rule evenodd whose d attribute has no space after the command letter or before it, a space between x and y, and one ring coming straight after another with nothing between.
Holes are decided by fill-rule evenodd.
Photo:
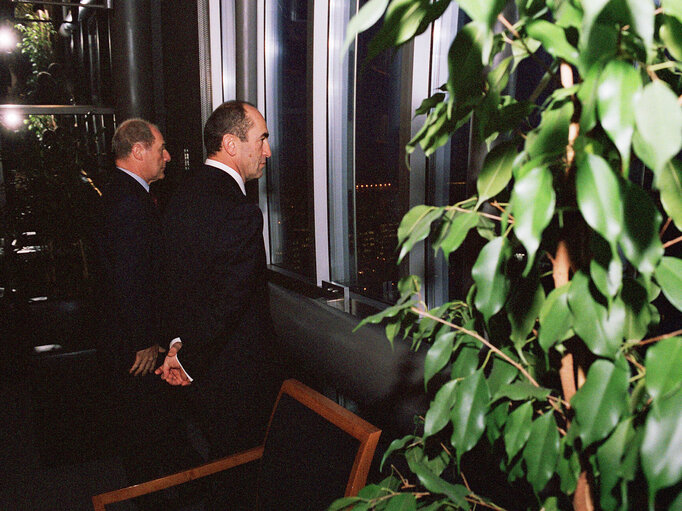
<instances>
[{"instance_id":1,"label":"large leafy green ficus plant filling the right side","mask_svg":"<svg viewBox=\"0 0 682 511\"><path fill-rule=\"evenodd\" d=\"M348 40L383 18L376 55L450 3L370 0ZM404 456L411 474L331 509L682 509L671 235L682 229L682 1L458 5L471 21L450 46L447 83L416 111L425 120L407 153L431 156L471 123L487 151L477 193L412 208L398 241L399 259L427 239L449 259L479 237L473 285L429 310L407 277L394 306L363 320L428 350L433 399L382 461ZM542 102L510 95L526 59L544 71L531 95L544 89ZM672 304L665 317L661 303ZM499 480L473 483L495 472L513 504L490 496L506 491Z\"/></svg>"}]
</instances>

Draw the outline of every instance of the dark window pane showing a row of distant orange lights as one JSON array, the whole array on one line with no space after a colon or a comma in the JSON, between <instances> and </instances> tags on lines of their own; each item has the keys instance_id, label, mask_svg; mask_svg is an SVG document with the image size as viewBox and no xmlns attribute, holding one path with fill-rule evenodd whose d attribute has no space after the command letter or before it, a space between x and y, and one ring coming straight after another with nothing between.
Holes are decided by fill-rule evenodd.
<instances>
[{"instance_id":1,"label":"dark window pane showing a row of distant orange lights","mask_svg":"<svg viewBox=\"0 0 682 511\"><path fill-rule=\"evenodd\" d=\"M365 2L360 2L360 7ZM355 99L355 259L351 290L394 302L400 278L397 230L406 204L400 179L401 51L367 61L378 26L358 37ZM401 190L402 189L402 190Z\"/></svg>"}]
</instances>

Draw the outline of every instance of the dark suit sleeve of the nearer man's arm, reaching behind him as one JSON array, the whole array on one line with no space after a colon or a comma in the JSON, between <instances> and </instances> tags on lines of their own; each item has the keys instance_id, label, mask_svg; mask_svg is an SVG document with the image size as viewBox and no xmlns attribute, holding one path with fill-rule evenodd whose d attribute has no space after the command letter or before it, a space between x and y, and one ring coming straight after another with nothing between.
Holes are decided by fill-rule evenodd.
<instances>
[{"instance_id":1,"label":"dark suit sleeve of the nearer man's arm, reaching behind him","mask_svg":"<svg viewBox=\"0 0 682 511\"><path fill-rule=\"evenodd\" d=\"M264 265L263 219L256 205L240 204L214 225L207 267L194 283L195 299L180 297L184 307L176 312L183 318L177 330L183 343L179 358L193 377L206 369L240 322Z\"/></svg>"}]
</instances>

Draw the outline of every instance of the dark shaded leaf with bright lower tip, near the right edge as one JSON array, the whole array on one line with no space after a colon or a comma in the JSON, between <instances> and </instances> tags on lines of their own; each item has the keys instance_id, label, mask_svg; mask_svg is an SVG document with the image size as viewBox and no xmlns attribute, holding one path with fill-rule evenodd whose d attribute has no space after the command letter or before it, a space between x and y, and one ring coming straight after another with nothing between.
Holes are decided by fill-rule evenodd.
<instances>
[{"instance_id":1,"label":"dark shaded leaf with bright lower tip, near the right edge","mask_svg":"<svg viewBox=\"0 0 682 511\"><path fill-rule=\"evenodd\" d=\"M658 237L661 214L642 188L630 181L623 181L623 184L625 222L620 247L635 268L650 276L663 257L663 245Z\"/></svg>"}]
</instances>

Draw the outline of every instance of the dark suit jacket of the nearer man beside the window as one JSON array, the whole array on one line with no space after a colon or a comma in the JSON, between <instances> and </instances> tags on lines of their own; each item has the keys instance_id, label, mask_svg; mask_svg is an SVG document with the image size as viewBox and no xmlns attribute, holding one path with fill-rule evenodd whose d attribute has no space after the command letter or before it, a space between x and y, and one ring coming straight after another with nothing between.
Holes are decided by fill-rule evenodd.
<instances>
[{"instance_id":1,"label":"dark suit jacket of the nearer man beside the window","mask_svg":"<svg viewBox=\"0 0 682 511\"><path fill-rule=\"evenodd\" d=\"M239 372L235 359L268 353L263 216L235 180L198 169L168 204L164 239L167 335L182 339L178 357L188 374Z\"/></svg>"}]
</instances>

